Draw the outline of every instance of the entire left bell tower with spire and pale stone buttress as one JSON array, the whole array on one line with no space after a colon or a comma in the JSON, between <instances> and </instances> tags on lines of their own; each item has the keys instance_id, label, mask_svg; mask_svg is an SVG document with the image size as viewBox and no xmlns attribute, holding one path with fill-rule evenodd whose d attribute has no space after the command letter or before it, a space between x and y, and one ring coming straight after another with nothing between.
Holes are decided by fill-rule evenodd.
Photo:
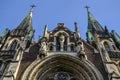
<instances>
[{"instance_id":1,"label":"entire left bell tower with spire and pale stone buttress","mask_svg":"<svg viewBox=\"0 0 120 80\"><path fill-rule=\"evenodd\" d=\"M0 78L16 80L23 53L33 43L32 9L18 27L0 35Z\"/></svg>"}]
</instances>

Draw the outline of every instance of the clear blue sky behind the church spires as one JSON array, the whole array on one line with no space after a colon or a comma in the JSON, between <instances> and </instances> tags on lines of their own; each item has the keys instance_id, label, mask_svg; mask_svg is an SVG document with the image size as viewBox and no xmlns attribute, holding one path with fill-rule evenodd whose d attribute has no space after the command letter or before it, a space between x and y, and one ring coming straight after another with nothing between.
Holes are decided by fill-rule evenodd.
<instances>
[{"instance_id":1,"label":"clear blue sky behind the church spires","mask_svg":"<svg viewBox=\"0 0 120 80\"><path fill-rule=\"evenodd\" d=\"M44 26L49 31L64 23L74 31L74 22L78 23L81 37L86 39L87 12L90 12L109 31L114 29L120 34L120 0L0 0L0 33L5 29L15 29L27 16L30 5L35 4L33 12L33 28L35 40L42 36Z\"/></svg>"}]
</instances>

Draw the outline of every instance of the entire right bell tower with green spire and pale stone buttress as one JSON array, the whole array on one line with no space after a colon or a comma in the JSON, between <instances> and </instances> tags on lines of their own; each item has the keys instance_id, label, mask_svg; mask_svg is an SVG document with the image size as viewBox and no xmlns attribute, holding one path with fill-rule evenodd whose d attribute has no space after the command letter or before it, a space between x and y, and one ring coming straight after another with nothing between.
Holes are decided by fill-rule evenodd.
<instances>
[{"instance_id":1,"label":"entire right bell tower with green spire and pale stone buttress","mask_svg":"<svg viewBox=\"0 0 120 80\"><path fill-rule=\"evenodd\" d=\"M100 53L109 80L120 79L120 51L115 44L119 43L119 36L112 31L110 33L105 26L103 28L100 23L93 17L87 8L88 13L88 30L87 42L93 45Z\"/></svg>"}]
</instances>

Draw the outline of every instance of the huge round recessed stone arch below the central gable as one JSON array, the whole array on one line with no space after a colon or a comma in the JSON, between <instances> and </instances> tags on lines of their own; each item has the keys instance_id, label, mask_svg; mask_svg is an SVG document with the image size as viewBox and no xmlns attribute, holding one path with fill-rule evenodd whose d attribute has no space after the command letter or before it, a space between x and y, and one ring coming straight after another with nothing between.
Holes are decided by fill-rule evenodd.
<instances>
[{"instance_id":1,"label":"huge round recessed stone arch below the central gable","mask_svg":"<svg viewBox=\"0 0 120 80\"><path fill-rule=\"evenodd\" d=\"M36 60L26 69L21 80L63 80L56 78L61 74L65 80L103 80L91 62L62 54Z\"/></svg>"}]
</instances>

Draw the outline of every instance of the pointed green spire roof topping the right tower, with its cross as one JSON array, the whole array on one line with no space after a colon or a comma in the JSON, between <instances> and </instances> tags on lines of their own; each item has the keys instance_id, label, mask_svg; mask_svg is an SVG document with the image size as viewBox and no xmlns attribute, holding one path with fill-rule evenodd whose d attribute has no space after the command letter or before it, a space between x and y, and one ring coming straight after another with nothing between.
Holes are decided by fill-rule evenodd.
<instances>
[{"instance_id":1,"label":"pointed green spire roof topping the right tower, with its cross","mask_svg":"<svg viewBox=\"0 0 120 80\"><path fill-rule=\"evenodd\" d=\"M97 31L97 32L104 32L104 29L102 28L102 26L99 24L99 22L94 18L94 16L90 13L90 11L88 10L88 6L86 6L87 8L87 14L88 14L88 29L91 31Z\"/></svg>"}]
</instances>

